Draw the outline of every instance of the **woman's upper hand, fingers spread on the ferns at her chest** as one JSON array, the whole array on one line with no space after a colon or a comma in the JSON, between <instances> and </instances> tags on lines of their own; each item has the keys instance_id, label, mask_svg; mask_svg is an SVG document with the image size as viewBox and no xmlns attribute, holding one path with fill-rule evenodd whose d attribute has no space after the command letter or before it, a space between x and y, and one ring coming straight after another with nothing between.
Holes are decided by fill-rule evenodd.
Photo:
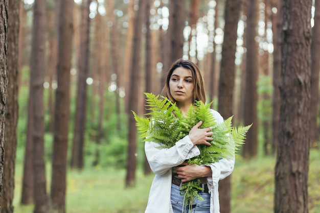
<instances>
[{"instance_id":1,"label":"woman's upper hand, fingers spread on the ferns at her chest","mask_svg":"<svg viewBox=\"0 0 320 213\"><path fill-rule=\"evenodd\" d=\"M193 145L203 144L207 146L211 146L211 144L208 142L213 140L211 135L213 135L213 132L211 131L212 128L203 128L199 129L199 127L202 125L202 121L198 122L189 132L189 138L191 139Z\"/></svg>"}]
</instances>

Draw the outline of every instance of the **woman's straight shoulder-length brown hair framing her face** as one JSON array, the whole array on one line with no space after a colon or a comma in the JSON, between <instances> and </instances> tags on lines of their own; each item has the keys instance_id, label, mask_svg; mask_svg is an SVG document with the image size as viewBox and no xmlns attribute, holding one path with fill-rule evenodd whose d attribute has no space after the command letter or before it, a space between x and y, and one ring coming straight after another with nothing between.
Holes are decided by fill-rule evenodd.
<instances>
[{"instance_id":1,"label":"woman's straight shoulder-length brown hair framing her face","mask_svg":"<svg viewBox=\"0 0 320 213\"><path fill-rule=\"evenodd\" d=\"M204 90L205 87L204 87L204 80L203 80L202 73L199 67L195 63L189 60L178 59L170 66L167 72L166 85L162 90L163 96L166 96L168 97L168 99L170 99L170 101L175 102L175 100L173 99L170 93L169 81L173 71L178 67L184 67L186 69L191 70L192 78L194 79L193 104L195 103L195 101L202 101L203 103L205 103L205 90Z\"/></svg>"}]
</instances>

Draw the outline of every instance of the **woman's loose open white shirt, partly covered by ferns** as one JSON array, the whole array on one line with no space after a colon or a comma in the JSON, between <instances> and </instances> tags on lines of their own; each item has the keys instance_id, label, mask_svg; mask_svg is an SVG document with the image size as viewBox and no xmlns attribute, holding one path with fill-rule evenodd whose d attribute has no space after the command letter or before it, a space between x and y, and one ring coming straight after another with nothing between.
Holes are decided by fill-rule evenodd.
<instances>
[{"instance_id":1,"label":"woman's loose open white shirt, partly covered by ferns","mask_svg":"<svg viewBox=\"0 0 320 213\"><path fill-rule=\"evenodd\" d=\"M217 123L222 123L222 116L215 110L212 114ZM158 149L159 144L146 141L145 152L151 170L155 173L153 179L148 204L145 213L173 213L171 205L171 184L172 167L176 167L186 159L200 154L197 146L193 145L189 136L185 136L169 149ZM220 159L218 162L210 164L212 177L207 177L209 193L211 194L210 213L219 213L219 180L227 177L233 171L235 156L231 159Z\"/></svg>"}]
</instances>

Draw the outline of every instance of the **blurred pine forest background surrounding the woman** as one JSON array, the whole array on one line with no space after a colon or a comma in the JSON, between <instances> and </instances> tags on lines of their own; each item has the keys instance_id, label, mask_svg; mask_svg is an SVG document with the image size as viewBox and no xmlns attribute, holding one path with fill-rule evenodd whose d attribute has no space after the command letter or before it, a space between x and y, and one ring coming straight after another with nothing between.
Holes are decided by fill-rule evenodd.
<instances>
[{"instance_id":1,"label":"blurred pine forest background surrounding the woman","mask_svg":"<svg viewBox=\"0 0 320 213\"><path fill-rule=\"evenodd\" d=\"M253 124L221 213L320 212L320 0L0 0L1 213L144 212L132 111L176 59Z\"/></svg>"}]
</instances>

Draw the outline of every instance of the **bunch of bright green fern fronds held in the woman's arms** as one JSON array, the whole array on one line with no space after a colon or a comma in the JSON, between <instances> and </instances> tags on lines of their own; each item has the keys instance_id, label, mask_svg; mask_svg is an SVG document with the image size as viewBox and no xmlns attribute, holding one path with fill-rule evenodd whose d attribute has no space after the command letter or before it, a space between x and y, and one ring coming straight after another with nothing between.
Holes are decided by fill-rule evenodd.
<instances>
[{"instance_id":1,"label":"bunch of bright green fern fronds held in the woman's arms","mask_svg":"<svg viewBox=\"0 0 320 213\"><path fill-rule=\"evenodd\" d=\"M199 121L203 122L200 128L212 127L211 146L197 145L200 155L186 160L190 164L210 164L221 158L230 158L244 143L245 134L251 126L240 126L238 129L232 127L232 116L217 124L210 110L211 103L196 101L194 106L190 106L187 114L183 115L168 98L152 93L145 95L146 106L150 112L146 114L147 117L138 116L133 112L134 118L144 141L158 143L159 149L173 147L178 140L188 135ZM195 197L202 199L198 195L198 190L203 190L199 179L182 184L180 190L189 205L192 205Z\"/></svg>"}]
</instances>

